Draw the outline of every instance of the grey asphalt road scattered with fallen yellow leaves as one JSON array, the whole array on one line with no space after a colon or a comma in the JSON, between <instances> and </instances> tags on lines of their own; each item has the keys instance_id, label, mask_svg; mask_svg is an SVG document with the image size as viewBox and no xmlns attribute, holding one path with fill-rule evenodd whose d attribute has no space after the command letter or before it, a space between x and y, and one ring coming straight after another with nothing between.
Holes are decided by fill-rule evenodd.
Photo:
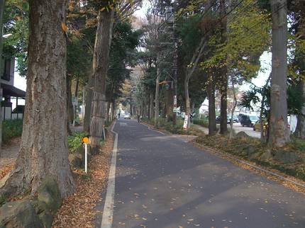
<instances>
[{"instance_id":1,"label":"grey asphalt road scattered with fallen yellow leaves","mask_svg":"<svg viewBox=\"0 0 305 228\"><path fill-rule=\"evenodd\" d=\"M113 228L305 227L305 197L135 120L118 120Z\"/></svg>"}]
</instances>

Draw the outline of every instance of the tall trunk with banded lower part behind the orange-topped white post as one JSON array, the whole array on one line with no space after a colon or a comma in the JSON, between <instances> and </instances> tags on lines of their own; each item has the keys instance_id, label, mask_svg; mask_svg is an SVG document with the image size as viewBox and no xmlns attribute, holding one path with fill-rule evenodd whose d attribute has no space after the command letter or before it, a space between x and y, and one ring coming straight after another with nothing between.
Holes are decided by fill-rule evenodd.
<instances>
[{"instance_id":1,"label":"tall trunk with banded lower part behind the orange-topped white post","mask_svg":"<svg viewBox=\"0 0 305 228\"><path fill-rule=\"evenodd\" d=\"M106 74L109 62L109 50L112 38L113 10L99 11L94 46L94 92L91 108L89 144L97 153L103 137L106 110Z\"/></svg>"}]
</instances>

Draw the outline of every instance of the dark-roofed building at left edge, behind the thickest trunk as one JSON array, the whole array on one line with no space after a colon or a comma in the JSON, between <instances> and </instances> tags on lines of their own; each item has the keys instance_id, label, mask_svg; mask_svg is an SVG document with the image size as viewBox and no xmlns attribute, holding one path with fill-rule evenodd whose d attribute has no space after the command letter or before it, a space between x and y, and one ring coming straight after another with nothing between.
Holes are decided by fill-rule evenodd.
<instances>
[{"instance_id":1,"label":"dark-roofed building at left edge, behind the thickest trunk","mask_svg":"<svg viewBox=\"0 0 305 228\"><path fill-rule=\"evenodd\" d=\"M15 59L1 59L1 111L2 120L22 119L24 106L18 105L18 100L26 98L26 92L13 86L13 75L15 72ZM16 108L12 109L12 100L16 100Z\"/></svg>"}]
</instances>

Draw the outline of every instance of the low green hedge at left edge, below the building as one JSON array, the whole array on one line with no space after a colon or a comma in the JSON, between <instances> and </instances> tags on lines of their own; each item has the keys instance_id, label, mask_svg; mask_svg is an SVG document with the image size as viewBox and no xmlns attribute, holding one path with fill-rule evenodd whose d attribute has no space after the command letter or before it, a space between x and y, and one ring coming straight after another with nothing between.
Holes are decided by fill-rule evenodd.
<instances>
[{"instance_id":1,"label":"low green hedge at left edge, below the building","mask_svg":"<svg viewBox=\"0 0 305 228\"><path fill-rule=\"evenodd\" d=\"M4 120L2 122L2 142L9 142L14 137L21 137L23 120Z\"/></svg>"}]
</instances>

